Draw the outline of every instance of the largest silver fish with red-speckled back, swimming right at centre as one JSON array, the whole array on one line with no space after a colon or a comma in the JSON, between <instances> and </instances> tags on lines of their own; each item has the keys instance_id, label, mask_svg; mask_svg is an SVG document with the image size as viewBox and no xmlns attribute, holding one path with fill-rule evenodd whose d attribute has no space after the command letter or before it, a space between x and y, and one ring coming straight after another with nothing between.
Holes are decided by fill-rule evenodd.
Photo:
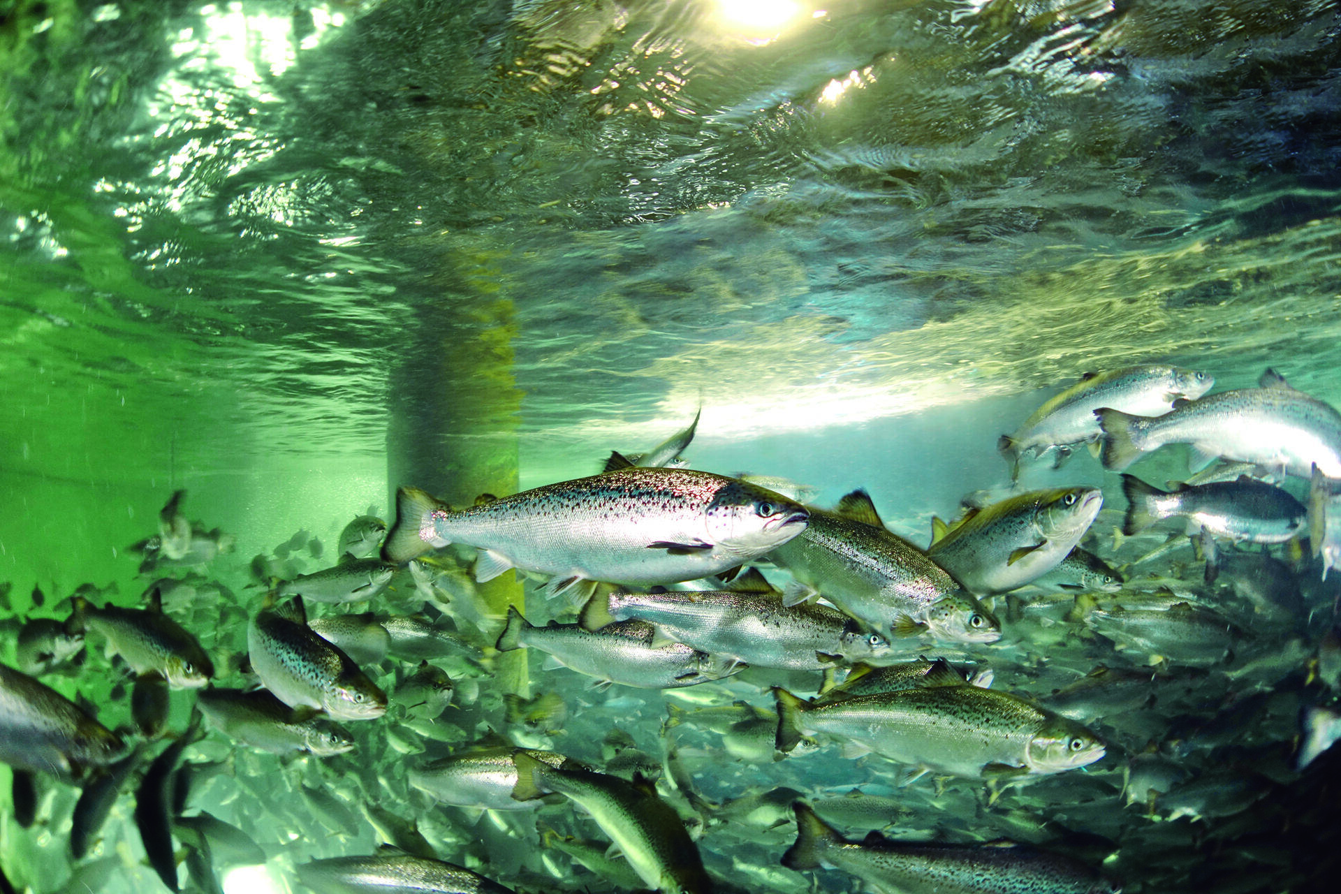
<instances>
[{"instance_id":1,"label":"largest silver fish with red-speckled back, swimming right at centre","mask_svg":"<svg viewBox=\"0 0 1341 894\"><path fill-rule=\"evenodd\" d=\"M384 555L408 562L463 543L480 550L476 580L508 568L656 586L719 574L801 533L809 513L779 493L692 469L626 468L452 511L422 491L397 492Z\"/></svg>"}]
</instances>

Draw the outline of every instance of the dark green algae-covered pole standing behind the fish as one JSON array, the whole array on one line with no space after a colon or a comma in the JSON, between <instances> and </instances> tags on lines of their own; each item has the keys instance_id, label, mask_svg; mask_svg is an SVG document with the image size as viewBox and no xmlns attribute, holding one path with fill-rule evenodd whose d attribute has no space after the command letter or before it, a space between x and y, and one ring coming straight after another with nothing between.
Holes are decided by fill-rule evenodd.
<instances>
[{"instance_id":1,"label":"dark green algae-covered pole standing behind the fish","mask_svg":"<svg viewBox=\"0 0 1341 894\"><path fill-rule=\"evenodd\" d=\"M410 351L392 371L386 472L393 493L402 484L465 507L481 493L518 491L518 414L522 393L512 377L512 302L498 283L468 280L472 299L425 302ZM479 584L499 615L524 609L515 572ZM526 651L498 655L502 692L527 694Z\"/></svg>"}]
</instances>

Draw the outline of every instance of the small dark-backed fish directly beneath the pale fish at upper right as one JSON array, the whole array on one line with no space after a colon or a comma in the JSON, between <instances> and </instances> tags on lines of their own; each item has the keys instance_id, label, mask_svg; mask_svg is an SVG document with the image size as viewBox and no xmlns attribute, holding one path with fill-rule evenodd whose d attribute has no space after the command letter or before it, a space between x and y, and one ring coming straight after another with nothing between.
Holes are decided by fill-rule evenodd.
<instances>
[{"instance_id":1,"label":"small dark-backed fish directly beneath the pale fish at upper right","mask_svg":"<svg viewBox=\"0 0 1341 894\"><path fill-rule=\"evenodd\" d=\"M1134 474L1122 476L1126 519L1122 533L1130 536L1161 519L1183 517L1189 524L1230 540L1285 543L1297 537L1306 509L1289 492L1242 477L1202 485L1179 485L1160 491Z\"/></svg>"}]
</instances>

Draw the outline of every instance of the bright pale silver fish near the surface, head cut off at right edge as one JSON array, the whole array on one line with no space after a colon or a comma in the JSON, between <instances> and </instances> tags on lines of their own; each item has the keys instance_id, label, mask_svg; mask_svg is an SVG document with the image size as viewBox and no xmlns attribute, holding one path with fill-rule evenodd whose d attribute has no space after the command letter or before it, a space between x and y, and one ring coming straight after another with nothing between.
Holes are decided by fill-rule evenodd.
<instances>
[{"instance_id":1,"label":"bright pale silver fish near the surface, head cut off at right edge","mask_svg":"<svg viewBox=\"0 0 1341 894\"><path fill-rule=\"evenodd\" d=\"M1188 444L1193 472L1220 457L1305 478L1317 465L1329 478L1341 478L1341 413L1295 391L1274 370L1263 373L1259 385L1211 394L1155 418L1096 410L1104 465L1121 472L1143 453Z\"/></svg>"}]
</instances>

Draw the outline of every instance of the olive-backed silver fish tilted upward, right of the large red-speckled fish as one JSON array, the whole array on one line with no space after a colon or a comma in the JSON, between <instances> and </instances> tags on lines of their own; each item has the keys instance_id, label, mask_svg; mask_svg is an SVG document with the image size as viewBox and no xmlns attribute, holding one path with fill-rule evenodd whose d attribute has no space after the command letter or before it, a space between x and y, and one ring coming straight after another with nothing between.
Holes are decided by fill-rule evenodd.
<instances>
[{"instance_id":1,"label":"olive-backed silver fish tilted upward, right of the large red-speckled fish","mask_svg":"<svg viewBox=\"0 0 1341 894\"><path fill-rule=\"evenodd\" d=\"M953 528L932 519L927 555L970 592L1006 592L1055 568L1102 505L1098 488L1029 491L971 509Z\"/></svg>"}]
</instances>

